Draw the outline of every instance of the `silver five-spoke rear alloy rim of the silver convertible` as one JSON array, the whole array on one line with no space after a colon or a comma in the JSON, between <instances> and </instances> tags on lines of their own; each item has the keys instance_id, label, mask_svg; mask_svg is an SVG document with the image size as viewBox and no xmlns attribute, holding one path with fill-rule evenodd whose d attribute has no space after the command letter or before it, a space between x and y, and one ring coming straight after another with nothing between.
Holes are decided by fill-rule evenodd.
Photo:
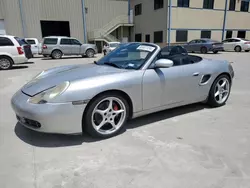
<instances>
[{"instance_id":1,"label":"silver five-spoke rear alloy rim of the silver convertible","mask_svg":"<svg viewBox=\"0 0 250 188\"><path fill-rule=\"evenodd\" d=\"M216 100L217 103L222 104L224 103L229 95L230 92L230 83L228 81L227 78L221 78L216 86L215 86L215 90L214 90L214 98Z\"/></svg>"}]
</instances>

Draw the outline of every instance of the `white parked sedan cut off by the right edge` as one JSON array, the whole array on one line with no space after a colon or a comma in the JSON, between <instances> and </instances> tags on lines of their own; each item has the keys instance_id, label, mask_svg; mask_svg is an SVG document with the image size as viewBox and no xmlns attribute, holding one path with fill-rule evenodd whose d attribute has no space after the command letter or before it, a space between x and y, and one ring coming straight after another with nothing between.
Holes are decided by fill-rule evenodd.
<instances>
[{"instance_id":1,"label":"white parked sedan cut off by the right edge","mask_svg":"<svg viewBox=\"0 0 250 188\"><path fill-rule=\"evenodd\" d=\"M245 52L250 51L250 40L243 38L228 38L223 40L223 47L225 51L236 51L241 52L244 50Z\"/></svg>"}]
</instances>

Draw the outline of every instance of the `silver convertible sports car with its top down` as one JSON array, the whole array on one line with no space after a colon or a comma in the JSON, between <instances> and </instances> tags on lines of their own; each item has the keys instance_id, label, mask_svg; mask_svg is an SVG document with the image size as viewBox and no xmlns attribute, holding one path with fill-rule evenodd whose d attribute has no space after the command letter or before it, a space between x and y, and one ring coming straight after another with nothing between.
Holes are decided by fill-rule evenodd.
<instances>
[{"instance_id":1,"label":"silver convertible sports car with its top down","mask_svg":"<svg viewBox=\"0 0 250 188\"><path fill-rule=\"evenodd\" d=\"M36 131L107 138L129 118L198 102L224 105L231 64L175 51L126 43L97 62L43 71L15 93L12 108Z\"/></svg>"}]
</instances>

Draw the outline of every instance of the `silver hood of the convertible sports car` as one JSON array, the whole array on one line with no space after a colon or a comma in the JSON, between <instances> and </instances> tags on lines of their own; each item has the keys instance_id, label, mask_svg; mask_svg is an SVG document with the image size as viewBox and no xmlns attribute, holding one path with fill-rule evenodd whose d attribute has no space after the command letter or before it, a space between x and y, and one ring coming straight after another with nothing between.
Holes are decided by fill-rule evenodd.
<instances>
[{"instance_id":1,"label":"silver hood of the convertible sports car","mask_svg":"<svg viewBox=\"0 0 250 188\"><path fill-rule=\"evenodd\" d=\"M85 64L55 67L43 71L22 87L22 92L34 96L65 81L75 81L91 77L121 73L129 70L118 69L106 65Z\"/></svg>"}]
</instances>

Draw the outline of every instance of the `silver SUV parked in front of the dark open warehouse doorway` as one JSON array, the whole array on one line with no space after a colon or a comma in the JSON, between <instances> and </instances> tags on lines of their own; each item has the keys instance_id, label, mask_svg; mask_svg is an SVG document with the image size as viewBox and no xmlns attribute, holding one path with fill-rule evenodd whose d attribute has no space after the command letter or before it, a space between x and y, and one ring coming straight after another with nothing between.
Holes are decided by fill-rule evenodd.
<instances>
[{"instance_id":1,"label":"silver SUV parked in front of the dark open warehouse doorway","mask_svg":"<svg viewBox=\"0 0 250 188\"><path fill-rule=\"evenodd\" d=\"M42 54L53 59L60 59L63 55L82 55L94 57L97 53L95 44L82 44L79 40L70 37L45 37L42 42Z\"/></svg>"}]
</instances>

